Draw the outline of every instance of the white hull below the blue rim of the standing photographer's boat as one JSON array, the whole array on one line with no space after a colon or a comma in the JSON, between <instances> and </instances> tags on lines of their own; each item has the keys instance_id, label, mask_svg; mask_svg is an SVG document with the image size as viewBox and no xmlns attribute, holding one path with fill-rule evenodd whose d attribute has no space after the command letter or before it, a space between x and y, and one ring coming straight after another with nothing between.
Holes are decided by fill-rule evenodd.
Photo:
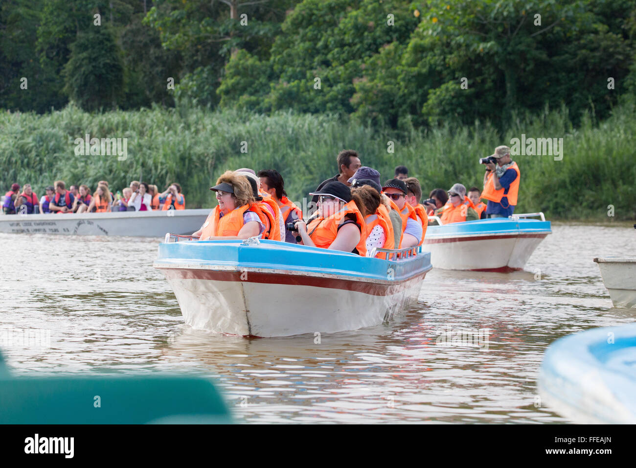
<instances>
[{"instance_id":1,"label":"white hull below the blue rim of the standing photographer's boat","mask_svg":"<svg viewBox=\"0 0 636 468\"><path fill-rule=\"evenodd\" d=\"M485 240L478 236L471 236L471 240L461 237L446 238L431 243L425 240L422 248L431 252L434 268L508 271L523 269L545 236L520 234L515 237L488 237Z\"/></svg>"}]
</instances>

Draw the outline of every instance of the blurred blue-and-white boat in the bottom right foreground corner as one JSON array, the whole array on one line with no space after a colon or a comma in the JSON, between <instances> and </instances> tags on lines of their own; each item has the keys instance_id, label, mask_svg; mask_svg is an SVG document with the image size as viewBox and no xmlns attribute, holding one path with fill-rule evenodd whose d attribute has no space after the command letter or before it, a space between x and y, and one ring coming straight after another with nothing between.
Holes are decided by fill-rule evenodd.
<instances>
[{"instance_id":1,"label":"blurred blue-and-white boat in the bottom right foreground corner","mask_svg":"<svg viewBox=\"0 0 636 468\"><path fill-rule=\"evenodd\" d=\"M577 423L636 423L636 323L558 339L546 350L539 392Z\"/></svg>"}]
</instances>

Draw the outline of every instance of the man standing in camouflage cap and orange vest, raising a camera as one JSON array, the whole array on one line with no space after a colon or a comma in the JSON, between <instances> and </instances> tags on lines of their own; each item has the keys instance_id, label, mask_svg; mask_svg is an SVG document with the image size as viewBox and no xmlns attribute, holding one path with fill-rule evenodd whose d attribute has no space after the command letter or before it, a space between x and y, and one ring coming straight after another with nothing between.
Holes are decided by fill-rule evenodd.
<instances>
[{"instance_id":1,"label":"man standing in camouflage cap and orange vest, raising a camera","mask_svg":"<svg viewBox=\"0 0 636 468\"><path fill-rule=\"evenodd\" d=\"M494 154L479 162L486 165L481 192L481 198L488 200L486 217L508 218L515 211L521 178L519 167L510 159L510 148L497 146Z\"/></svg>"}]
</instances>

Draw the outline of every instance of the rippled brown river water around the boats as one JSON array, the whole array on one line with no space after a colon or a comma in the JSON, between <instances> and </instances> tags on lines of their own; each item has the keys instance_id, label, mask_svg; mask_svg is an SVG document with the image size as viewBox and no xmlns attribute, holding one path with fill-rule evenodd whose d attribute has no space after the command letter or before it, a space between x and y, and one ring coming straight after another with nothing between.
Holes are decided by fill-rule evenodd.
<instances>
[{"instance_id":1,"label":"rippled brown river water around the boats","mask_svg":"<svg viewBox=\"0 0 636 468\"><path fill-rule=\"evenodd\" d=\"M568 422L537 395L546 346L636 320L636 311L612 308L592 262L633 256L630 225L553 224L525 271L433 269L396 321L319 340L186 327L151 267L158 240L0 234L0 242L0 348L12 372L196 372L221 386L237 422ZM478 338L445 345L457 330Z\"/></svg>"}]
</instances>

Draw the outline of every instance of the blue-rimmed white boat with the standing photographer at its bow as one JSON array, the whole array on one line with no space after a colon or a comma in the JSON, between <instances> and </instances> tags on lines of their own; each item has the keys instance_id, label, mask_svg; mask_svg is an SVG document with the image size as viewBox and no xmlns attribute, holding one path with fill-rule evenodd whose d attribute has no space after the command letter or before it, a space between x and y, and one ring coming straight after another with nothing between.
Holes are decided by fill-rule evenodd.
<instances>
[{"instance_id":1,"label":"blue-rimmed white boat with the standing photographer at its bow","mask_svg":"<svg viewBox=\"0 0 636 468\"><path fill-rule=\"evenodd\" d=\"M541 220L530 216L541 216ZM439 222L436 216L429 219ZM431 252L435 268L508 272L523 269L537 245L551 232L550 221L543 213L443 225L439 222L426 230L422 248Z\"/></svg>"}]
</instances>

